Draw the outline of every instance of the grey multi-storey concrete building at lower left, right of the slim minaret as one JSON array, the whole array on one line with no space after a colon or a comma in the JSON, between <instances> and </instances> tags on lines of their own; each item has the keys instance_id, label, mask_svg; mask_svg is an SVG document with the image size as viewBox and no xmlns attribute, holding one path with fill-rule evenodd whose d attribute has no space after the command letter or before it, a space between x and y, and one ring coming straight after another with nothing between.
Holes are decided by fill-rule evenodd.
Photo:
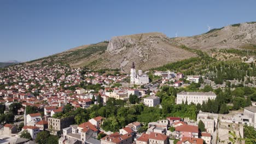
<instances>
[{"instance_id":1,"label":"grey multi-storey concrete building at lower left, right of the slim minaret","mask_svg":"<svg viewBox=\"0 0 256 144\"><path fill-rule=\"evenodd\" d=\"M69 116L65 118L48 118L48 131L53 135L60 135L62 129L69 127L69 125L74 123L74 116Z\"/></svg>"}]
</instances>

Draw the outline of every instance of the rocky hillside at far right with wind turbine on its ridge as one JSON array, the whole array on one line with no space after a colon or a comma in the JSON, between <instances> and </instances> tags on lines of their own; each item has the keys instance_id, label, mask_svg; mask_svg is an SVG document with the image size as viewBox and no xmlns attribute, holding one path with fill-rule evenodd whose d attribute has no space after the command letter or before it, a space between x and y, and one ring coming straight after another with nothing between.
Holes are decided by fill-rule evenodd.
<instances>
[{"instance_id":1,"label":"rocky hillside at far right with wind turbine on its ridge","mask_svg":"<svg viewBox=\"0 0 256 144\"><path fill-rule=\"evenodd\" d=\"M202 51L227 48L256 49L256 22L237 23L211 29L193 37L179 37L173 40L179 45Z\"/></svg>"}]
</instances>

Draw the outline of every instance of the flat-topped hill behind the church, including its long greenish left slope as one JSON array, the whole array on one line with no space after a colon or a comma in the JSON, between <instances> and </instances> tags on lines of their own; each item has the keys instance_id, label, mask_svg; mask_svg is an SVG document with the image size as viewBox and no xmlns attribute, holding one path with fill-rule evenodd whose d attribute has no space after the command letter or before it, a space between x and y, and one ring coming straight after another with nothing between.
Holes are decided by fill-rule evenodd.
<instances>
[{"instance_id":1,"label":"flat-topped hill behind the church, including its long greenish left slope","mask_svg":"<svg viewBox=\"0 0 256 144\"><path fill-rule=\"evenodd\" d=\"M143 33L113 37L109 42L75 47L27 64L60 62L68 63L74 68L118 68L129 72L132 62L135 62L138 69L147 70L196 56L196 53L171 43L170 38L162 33Z\"/></svg>"}]
</instances>

